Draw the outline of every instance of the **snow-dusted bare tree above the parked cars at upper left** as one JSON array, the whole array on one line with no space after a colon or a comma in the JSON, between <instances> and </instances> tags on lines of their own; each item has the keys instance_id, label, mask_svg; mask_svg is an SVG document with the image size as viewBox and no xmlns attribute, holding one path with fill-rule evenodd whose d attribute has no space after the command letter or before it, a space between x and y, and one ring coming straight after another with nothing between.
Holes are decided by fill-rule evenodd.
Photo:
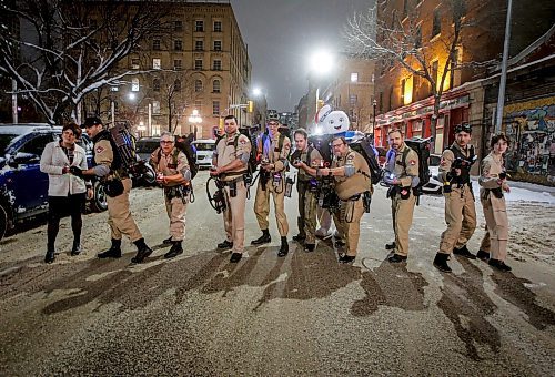
<instances>
[{"instance_id":1,"label":"snow-dusted bare tree above the parked cars at upper left","mask_svg":"<svg viewBox=\"0 0 555 377\"><path fill-rule=\"evenodd\" d=\"M158 1L0 1L22 34L0 33L0 73L51 124L79 119L83 98L137 71L118 63L161 28Z\"/></svg>"}]
</instances>

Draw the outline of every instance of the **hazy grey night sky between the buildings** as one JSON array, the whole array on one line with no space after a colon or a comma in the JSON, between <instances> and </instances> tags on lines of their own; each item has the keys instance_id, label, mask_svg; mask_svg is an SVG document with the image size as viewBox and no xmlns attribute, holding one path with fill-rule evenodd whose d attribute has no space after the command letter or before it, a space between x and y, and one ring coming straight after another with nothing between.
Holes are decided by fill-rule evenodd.
<instances>
[{"instance_id":1,"label":"hazy grey night sky between the buildings","mask_svg":"<svg viewBox=\"0 0 555 377\"><path fill-rule=\"evenodd\" d=\"M252 63L252 84L268 108L293 111L309 88L309 55L319 48L341 50L341 31L372 0L232 0Z\"/></svg>"}]
</instances>

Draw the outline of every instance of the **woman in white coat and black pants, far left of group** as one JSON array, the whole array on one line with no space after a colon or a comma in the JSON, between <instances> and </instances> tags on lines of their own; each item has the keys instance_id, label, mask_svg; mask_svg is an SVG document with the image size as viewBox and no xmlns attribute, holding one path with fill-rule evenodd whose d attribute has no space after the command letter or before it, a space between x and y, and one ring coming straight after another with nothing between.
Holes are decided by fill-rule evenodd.
<instances>
[{"instance_id":1,"label":"woman in white coat and black pants, far left of group","mask_svg":"<svg viewBox=\"0 0 555 377\"><path fill-rule=\"evenodd\" d=\"M82 177L70 173L70 166L88 169L87 154L75 141L81 136L81 129L75 123L63 126L60 141L54 141L44 147L40 159L40 171L48 174L48 244L46 263L56 258L56 237L60 228L60 218L71 215L73 231L73 247L71 255L81 252L81 213L84 208L85 193L91 196ZM90 190L88 192L88 188Z\"/></svg>"}]
</instances>

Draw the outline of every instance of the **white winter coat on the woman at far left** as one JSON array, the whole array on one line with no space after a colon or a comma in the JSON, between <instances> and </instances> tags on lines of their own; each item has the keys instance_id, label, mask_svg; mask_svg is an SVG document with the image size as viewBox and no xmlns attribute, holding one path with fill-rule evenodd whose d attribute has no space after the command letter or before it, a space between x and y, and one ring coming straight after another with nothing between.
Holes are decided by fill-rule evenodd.
<instances>
[{"instance_id":1,"label":"white winter coat on the woman at far left","mask_svg":"<svg viewBox=\"0 0 555 377\"><path fill-rule=\"evenodd\" d=\"M62 174L63 166L69 166L69 159L59 141L48 143L40 157L40 171L48 174L48 196L68 196L87 192L84 180L73 174ZM73 166L88 169L84 150L75 144Z\"/></svg>"}]
</instances>

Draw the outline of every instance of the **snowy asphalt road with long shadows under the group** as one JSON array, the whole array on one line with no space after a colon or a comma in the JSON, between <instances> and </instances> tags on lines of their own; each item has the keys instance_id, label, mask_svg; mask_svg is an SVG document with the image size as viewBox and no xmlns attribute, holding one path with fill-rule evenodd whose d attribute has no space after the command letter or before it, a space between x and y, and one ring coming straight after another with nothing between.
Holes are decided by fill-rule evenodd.
<instances>
[{"instance_id":1,"label":"snowy asphalt road with long shadows under the group","mask_svg":"<svg viewBox=\"0 0 555 377\"><path fill-rule=\"evenodd\" d=\"M157 188L133 190L131 198L155 247L145 264L130 264L129 242L122 258L95 258L109 246L107 214L85 216L78 257L69 256L64 220L52 265L42 263L44 225L3 240L0 375L555 375L553 206L509 208L513 273L464 258L450 262L453 274L433 268L441 197L417 207L408 262L384 262L392 231L382 188L363 218L354 265L337 264L331 242L314 253L291 242L278 258L273 217L273 242L248 247L235 265L215 249L223 223L208 204L205 179L195 179L185 253L175 259L162 258L168 220ZM286 203L290 238L295 202ZM260 233L252 204L246 243Z\"/></svg>"}]
</instances>

